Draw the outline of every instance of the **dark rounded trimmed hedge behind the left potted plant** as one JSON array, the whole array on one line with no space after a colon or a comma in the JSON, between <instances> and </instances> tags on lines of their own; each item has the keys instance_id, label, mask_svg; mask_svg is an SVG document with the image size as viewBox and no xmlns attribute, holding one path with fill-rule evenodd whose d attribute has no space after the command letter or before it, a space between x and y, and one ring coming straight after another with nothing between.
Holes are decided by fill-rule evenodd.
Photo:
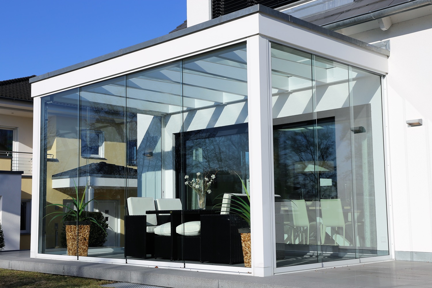
<instances>
[{"instance_id":1,"label":"dark rounded trimmed hedge behind the left potted plant","mask_svg":"<svg viewBox=\"0 0 432 288\"><path fill-rule=\"evenodd\" d=\"M95 218L96 222L101 225L105 231L108 229L108 224L105 221L105 217L102 212L86 212L89 217ZM66 221L73 221L73 216L67 217ZM91 223L90 225L90 236L89 236L89 247L102 247L107 241L107 235L104 230L102 230L95 223ZM110 231L107 231L110 233ZM62 248L66 248L66 225L63 224L63 228L60 234L60 246Z\"/></svg>"}]
</instances>

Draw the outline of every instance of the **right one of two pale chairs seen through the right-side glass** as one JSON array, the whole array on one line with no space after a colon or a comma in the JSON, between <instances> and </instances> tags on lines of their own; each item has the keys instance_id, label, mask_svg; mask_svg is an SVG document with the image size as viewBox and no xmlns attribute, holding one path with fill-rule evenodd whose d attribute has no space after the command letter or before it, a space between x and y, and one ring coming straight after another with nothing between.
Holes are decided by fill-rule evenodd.
<instances>
[{"instance_id":1,"label":"right one of two pale chairs seen through the right-side glass","mask_svg":"<svg viewBox=\"0 0 432 288\"><path fill-rule=\"evenodd\" d=\"M327 227L334 227L334 245L337 245L337 228L343 228L343 246L346 244L345 230L346 225L351 222L345 222L342 211L342 203L340 199L321 199L321 218L323 228L321 230L321 241L324 244ZM331 233L331 232L330 232ZM332 236L330 234L330 236Z\"/></svg>"}]
</instances>

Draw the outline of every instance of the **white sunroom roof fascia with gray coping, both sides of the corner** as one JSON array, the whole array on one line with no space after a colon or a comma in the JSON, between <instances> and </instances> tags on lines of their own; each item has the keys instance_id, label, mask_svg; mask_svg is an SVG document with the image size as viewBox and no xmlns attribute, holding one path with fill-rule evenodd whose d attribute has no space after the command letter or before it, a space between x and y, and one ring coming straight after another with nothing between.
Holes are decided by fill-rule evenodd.
<instances>
[{"instance_id":1,"label":"white sunroom roof fascia with gray coping, both sides of the corner","mask_svg":"<svg viewBox=\"0 0 432 288\"><path fill-rule=\"evenodd\" d=\"M30 79L32 97L180 60L260 35L376 73L388 72L389 51L285 13L255 5L111 54Z\"/></svg>"}]
</instances>

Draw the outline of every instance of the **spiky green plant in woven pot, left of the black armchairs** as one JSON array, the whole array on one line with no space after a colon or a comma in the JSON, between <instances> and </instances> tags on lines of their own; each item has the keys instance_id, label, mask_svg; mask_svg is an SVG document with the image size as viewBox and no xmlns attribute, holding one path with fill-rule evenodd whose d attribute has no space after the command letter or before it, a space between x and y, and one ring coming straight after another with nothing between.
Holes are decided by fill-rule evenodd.
<instances>
[{"instance_id":1,"label":"spiky green plant in woven pot, left of the black armchairs","mask_svg":"<svg viewBox=\"0 0 432 288\"><path fill-rule=\"evenodd\" d=\"M45 215L44 217L54 215L54 217L51 218L49 223L51 223L51 221L53 221L57 217L62 217L61 222L64 222L64 224L66 225L67 255L87 256L87 252L89 249L90 224L92 222L98 225L105 232L105 234L107 234L105 229L96 221L96 219L89 216L88 211L86 211L89 203L92 201L97 202L95 198L98 197L94 197L89 201L85 202L86 191L87 185L84 188L83 196L81 197L81 199L79 199L78 187L75 184L76 198L73 198L71 196L67 197L72 199L72 204L76 208L76 210L70 209L70 207L64 204L50 204L45 206L60 206L66 208L66 211L52 212ZM67 221L70 219L72 219L72 221Z\"/></svg>"}]
</instances>

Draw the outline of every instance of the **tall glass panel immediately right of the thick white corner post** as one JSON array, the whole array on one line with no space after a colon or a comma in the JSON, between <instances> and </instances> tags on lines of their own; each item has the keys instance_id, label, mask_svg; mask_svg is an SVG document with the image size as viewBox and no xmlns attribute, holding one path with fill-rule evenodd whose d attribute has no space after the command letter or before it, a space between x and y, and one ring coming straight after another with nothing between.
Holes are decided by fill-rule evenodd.
<instances>
[{"instance_id":1,"label":"tall glass panel immediately right of the thick white corner post","mask_svg":"<svg viewBox=\"0 0 432 288\"><path fill-rule=\"evenodd\" d=\"M318 262L312 57L271 46L276 267Z\"/></svg>"}]
</instances>

